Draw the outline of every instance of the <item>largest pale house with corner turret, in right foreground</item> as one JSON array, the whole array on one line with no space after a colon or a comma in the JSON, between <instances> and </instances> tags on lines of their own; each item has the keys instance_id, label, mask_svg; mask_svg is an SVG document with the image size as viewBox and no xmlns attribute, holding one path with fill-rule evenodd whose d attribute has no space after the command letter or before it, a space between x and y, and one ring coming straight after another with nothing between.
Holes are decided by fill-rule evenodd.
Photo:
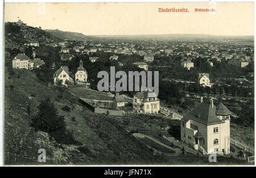
<instances>
[{"instance_id":1,"label":"largest pale house with corner turret, in right foreground","mask_svg":"<svg viewBox=\"0 0 256 178\"><path fill-rule=\"evenodd\" d=\"M230 111L213 100L203 102L180 120L181 141L203 154L230 153Z\"/></svg>"}]
</instances>

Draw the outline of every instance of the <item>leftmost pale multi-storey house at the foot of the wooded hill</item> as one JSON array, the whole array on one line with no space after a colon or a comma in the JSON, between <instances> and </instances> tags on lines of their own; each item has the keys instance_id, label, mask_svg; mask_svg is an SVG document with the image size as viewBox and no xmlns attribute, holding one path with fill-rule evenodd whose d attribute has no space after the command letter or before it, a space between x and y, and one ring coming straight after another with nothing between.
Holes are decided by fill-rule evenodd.
<instances>
[{"instance_id":1,"label":"leftmost pale multi-storey house at the foot of the wooded hill","mask_svg":"<svg viewBox=\"0 0 256 178\"><path fill-rule=\"evenodd\" d=\"M30 58L25 55L25 53L20 53L16 55L13 59L14 69L29 69L30 68Z\"/></svg>"}]
</instances>

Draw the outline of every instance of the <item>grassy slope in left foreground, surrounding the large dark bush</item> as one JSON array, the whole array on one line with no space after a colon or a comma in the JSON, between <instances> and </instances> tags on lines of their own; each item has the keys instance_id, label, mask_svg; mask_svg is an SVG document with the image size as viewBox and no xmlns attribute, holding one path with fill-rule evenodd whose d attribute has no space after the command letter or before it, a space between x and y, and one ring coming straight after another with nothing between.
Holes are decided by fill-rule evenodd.
<instances>
[{"instance_id":1,"label":"grassy slope in left foreground, surrounding the large dark bush","mask_svg":"<svg viewBox=\"0 0 256 178\"><path fill-rule=\"evenodd\" d=\"M34 94L35 97L31 97ZM39 102L47 96L55 103L59 114L64 115L67 129L82 146L60 145L47 133L35 132L30 127L31 117L36 114ZM29 102L31 116L27 114ZM64 105L71 107L71 112L61 110ZM111 119L85 109L67 90L46 86L31 71L18 69L10 77L8 69L5 70L6 164L39 164L39 148L46 149L46 164L168 163L168 160L144 151L138 143L118 131L109 122Z\"/></svg>"}]
</instances>

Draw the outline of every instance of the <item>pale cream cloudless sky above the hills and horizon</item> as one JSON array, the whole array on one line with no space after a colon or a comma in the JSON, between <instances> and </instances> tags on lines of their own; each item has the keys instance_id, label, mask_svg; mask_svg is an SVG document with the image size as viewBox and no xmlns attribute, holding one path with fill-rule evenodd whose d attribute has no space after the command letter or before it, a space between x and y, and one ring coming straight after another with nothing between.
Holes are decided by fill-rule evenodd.
<instances>
[{"instance_id":1,"label":"pale cream cloudless sky above the hills and horizon","mask_svg":"<svg viewBox=\"0 0 256 178\"><path fill-rule=\"evenodd\" d=\"M189 13L159 13L173 7ZM84 35L254 35L253 2L5 3L5 22L18 17L28 26Z\"/></svg>"}]
</instances>

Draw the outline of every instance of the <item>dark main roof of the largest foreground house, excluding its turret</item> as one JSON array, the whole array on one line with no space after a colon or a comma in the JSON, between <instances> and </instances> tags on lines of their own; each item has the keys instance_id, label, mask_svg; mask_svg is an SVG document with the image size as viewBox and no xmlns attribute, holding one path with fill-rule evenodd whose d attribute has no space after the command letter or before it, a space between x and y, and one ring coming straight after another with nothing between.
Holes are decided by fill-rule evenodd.
<instances>
[{"instance_id":1,"label":"dark main roof of the largest foreground house, excluding its turret","mask_svg":"<svg viewBox=\"0 0 256 178\"><path fill-rule=\"evenodd\" d=\"M195 121L204 123L205 125L224 122L221 121L221 119L219 119L215 113L216 106L213 105L212 107L212 104L201 102L192 111L190 111L190 113L185 115L181 121L188 122L189 119L193 119Z\"/></svg>"}]
</instances>

